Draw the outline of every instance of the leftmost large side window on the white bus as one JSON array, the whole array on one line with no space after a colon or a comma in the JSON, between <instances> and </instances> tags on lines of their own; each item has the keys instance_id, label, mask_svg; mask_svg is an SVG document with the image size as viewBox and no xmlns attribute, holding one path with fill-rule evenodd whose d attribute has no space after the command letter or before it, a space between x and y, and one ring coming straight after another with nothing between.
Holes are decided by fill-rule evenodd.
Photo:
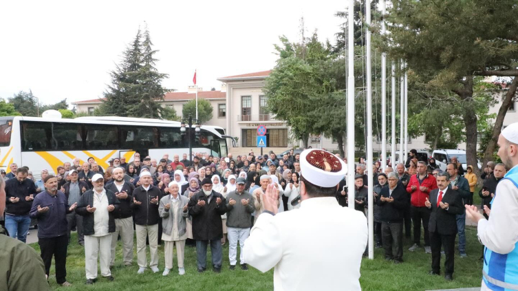
<instances>
[{"instance_id":1,"label":"leftmost large side window on the white bus","mask_svg":"<svg viewBox=\"0 0 518 291\"><path fill-rule=\"evenodd\" d=\"M49 151L50 138L52 138L52 125L50 122L29 122L21 123L22 151Z\"/></svg>"}]
</instances>

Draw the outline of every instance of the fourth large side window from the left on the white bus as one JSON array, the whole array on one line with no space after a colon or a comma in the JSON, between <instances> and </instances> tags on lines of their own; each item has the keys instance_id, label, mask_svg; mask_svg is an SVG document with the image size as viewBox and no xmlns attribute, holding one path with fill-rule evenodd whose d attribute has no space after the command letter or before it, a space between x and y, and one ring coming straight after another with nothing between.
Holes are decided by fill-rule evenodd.
<instances>
[{"instance_id":1,"label":"fourth large side window from the left on the white bus","mask_svg":"<svg viewBox=\"0 0 518 291\"><path fill-rule=\"evenodd\" d=\"M156 147L154 127L120 127L122 149L151 149Z\"/></svg>"}]
</instances>

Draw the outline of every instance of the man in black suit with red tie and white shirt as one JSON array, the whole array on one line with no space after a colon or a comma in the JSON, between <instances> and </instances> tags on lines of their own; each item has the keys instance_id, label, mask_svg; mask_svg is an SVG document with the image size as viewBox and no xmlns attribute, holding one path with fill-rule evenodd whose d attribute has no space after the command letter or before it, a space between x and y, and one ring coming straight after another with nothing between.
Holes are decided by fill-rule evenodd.
<instances>
[{"instance_id":1,"label":"man in black suit with red tie and white shirt","mask_svg":"<svg viewBox=\"0 0 518 291\"><path fill-rule=\"evenodd\" d=\"M455 215L464 213L462 197L450 184L449 174L437 174L437 189L430 192L425 206L431 208L428 230L432 251L432 270L429 274L440 274L441 246L444 247L446 261L444 262L444 279L453 279L453 257L455 255L455 236L457 235L457 220Z\"/></svg>"}]
</instances>

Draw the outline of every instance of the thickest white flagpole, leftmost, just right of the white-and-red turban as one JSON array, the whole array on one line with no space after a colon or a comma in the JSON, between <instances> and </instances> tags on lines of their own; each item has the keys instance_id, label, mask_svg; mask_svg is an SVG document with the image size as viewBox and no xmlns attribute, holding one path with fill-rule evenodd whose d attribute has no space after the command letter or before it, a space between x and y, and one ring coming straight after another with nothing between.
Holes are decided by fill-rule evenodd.
<instances>
[{"instance_id":1,"label":"thickest white flagpole, leftmost, just right of the white-and-red turban","mask_svg":"<svg viewBox=\"0 0 518 291\"><path fill-rule=\"evenodd\" d=\"M347 3L347 200L354 209L354 0Z\"/></svg>"}]
</instances>

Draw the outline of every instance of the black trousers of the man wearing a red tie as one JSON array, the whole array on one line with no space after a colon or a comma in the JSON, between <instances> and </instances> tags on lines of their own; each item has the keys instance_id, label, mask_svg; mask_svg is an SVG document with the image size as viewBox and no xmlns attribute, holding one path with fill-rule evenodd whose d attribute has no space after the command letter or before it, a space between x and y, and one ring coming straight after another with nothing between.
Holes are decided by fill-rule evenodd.
<instances>
[{"instance_id":1,"label":"black trousers of the man wearing a red tie","mask_svg":"<svg viewBox=\"0 0 518 291\"><path fill-rule=\"evenodd\" d=\"M444 274L453 274L453 258L455 257L455 235L440 235L437 231L431 232L432 250L432 271L435 273L441 270L441 246L444 248L446 261L444 261Z\"/></svg>"}]
</instances>

